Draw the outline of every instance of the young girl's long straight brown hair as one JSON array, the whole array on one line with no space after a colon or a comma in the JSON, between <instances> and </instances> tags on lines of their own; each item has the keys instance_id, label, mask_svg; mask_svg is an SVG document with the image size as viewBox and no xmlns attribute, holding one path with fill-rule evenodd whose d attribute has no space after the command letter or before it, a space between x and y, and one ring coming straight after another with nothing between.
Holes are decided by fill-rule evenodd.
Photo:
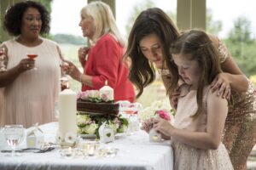
<instances>
[{"instance_id":1,"label":"young girl's long straight brown hair","mask_svg":"<svg viewBox=\"0 0 256 170\"><path fill-rule=\"evenodd\" d=\"M187 54L183 56L186 56L189 60L196 60L200 67L201 77L198 82L196 95L198 110L193 116L197 117L202 112L204 87L209 85L213 79L222 72L220 68L220 60L218 58L218 51L205 31L190 30L184 31L181 36L177 38L177 41L172 43L171 54ZM172 60L167 60L166 62L173 63ZM176 76L178 77L177 70ZM171 82L171 87L176 85L177 81ZM172 93L173 88L170 90Z\"/></svg>"}]
</instances>

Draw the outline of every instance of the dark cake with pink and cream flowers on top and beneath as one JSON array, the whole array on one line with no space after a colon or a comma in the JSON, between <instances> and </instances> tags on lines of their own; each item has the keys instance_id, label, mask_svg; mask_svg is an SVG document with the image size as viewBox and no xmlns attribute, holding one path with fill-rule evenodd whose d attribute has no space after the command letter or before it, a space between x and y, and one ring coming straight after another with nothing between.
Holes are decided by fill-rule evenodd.
<instances>
[{"instance_id":1,"label":"dark cake with pink and cream flowers on top and beneath","mask_svg":"<svg viewBox=\"0 0 256 170\"><path fill-rule=\"evenodd\" d=\"M106 87L101 89L87 90L78 94L77 126L82 138L94 135L99 139L99 128L103 123L111 127L113 133L125 133L128 128L128 120L119 115L119 103L113 101L112 90Z\"/></svg>"}]
</instances>

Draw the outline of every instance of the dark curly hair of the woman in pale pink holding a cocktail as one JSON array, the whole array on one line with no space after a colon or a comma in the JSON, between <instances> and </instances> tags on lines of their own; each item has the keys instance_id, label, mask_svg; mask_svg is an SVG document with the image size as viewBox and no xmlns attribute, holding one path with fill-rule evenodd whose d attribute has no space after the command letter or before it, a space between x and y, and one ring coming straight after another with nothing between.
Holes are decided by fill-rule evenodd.
<instances>
[{"instance_id":1,"label":"dark curly hair of the woman in pale pink holding a cocktail","mask_svg":"<svg viewBox=\"0 0 256 170\"><path fill-rule=\"evenodd\" d=\"M42 20L42 28L40 34L49 33L49 12L46 10L46 8L44 8L44 5L33 1L15 3L13 6L10 6L4 16L4 30L8 31L9 35L11 36L19 36L21 33L20 30L22 25L22 17L27 8L38 9Z\"/></svg>"}]
</instances>

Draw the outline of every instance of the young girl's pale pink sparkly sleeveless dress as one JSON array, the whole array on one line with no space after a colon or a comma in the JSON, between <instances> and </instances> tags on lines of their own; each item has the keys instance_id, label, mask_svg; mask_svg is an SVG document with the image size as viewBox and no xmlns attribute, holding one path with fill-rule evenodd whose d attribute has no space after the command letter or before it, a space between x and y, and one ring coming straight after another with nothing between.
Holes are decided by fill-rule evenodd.
<instances>
[{"instance_id":1,"label":"young girl's pale pink sparkly sleeveless dress","mask_svg":"<svg viewBox=\"0 0 256 170\"><path fill-rule=\"evenodd\" d=\"M207 131L207 93L210 87L204 88L203 112L195 120L197 111L196 90L182 87L182 94L178 99L177 112L173 126L192 132ZM186 92L187 91L187 92ZM175 170L230 170L233 169L230 156L224 146L219 144L217 150L203 150L172 140Z\"/></svg>"}]
</instances>

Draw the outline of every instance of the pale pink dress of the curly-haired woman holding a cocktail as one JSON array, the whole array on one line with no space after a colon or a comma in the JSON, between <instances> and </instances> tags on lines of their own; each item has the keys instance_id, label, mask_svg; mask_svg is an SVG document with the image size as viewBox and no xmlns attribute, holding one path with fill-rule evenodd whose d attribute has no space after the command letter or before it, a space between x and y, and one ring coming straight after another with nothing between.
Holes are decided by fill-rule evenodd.
<instances>
[{"instance_id":1,"label":"pale pink dress of the curly-haired woman holding a cocktail","mask_svg":"<svg viewBox=\"0 0 256 170\"><path fill-rule=\"evenodd\" d=\"M5 88L0 88L0 122L6 124L23 124L30 127L35 123L43 124L55 121L55 101L61 90L61 57L55 42L48 39L37 47L26 47L15 39L3 42L8 54L0 59L0 72L8 71L25 59L27 53L38 54L35 67L20 73Z\"/></svg>"}]
</instances>

